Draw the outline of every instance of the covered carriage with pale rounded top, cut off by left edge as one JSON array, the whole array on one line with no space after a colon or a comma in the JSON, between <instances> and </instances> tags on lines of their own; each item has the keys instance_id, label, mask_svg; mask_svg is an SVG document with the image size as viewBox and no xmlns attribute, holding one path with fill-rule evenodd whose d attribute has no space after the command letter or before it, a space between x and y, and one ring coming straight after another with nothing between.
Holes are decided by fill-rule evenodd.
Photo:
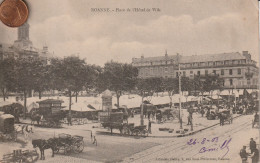
<instances>
[{"instance_id":1,"label":"covered carriage with pale rounded top, cut off by left edge","mask_svg":"<svg viewBox=\"0 0 260 163\"><path fill-rule=\"evenodd\" d=\"M0 113L0 140L14 140L17 139L17 134L14 128L15 118L11 114Z\"/></svg>"}]
</instances>

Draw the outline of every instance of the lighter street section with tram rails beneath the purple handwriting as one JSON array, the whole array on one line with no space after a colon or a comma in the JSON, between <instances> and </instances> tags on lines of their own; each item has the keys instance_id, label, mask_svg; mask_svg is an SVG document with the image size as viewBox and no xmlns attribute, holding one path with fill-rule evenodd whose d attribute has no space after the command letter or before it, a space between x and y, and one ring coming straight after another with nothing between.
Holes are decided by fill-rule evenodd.
<instances>
[{"instance_id":1,"label":"lighter street section with tram rails beneath the purple handwriting","mask_svg":"<svg viewBox=\"0 0 260 163\"><path fill-rule=\"evenodd\" d=\"M248 145L250 138L259 142L258 130L252 129L251 120L252 115L242 116L231 125L215 126L195 135L173 138L168 143L132 155L124 162L216 162L220 159L232 163L240 162L239 150L242 146ZM196 139L196 144L188 145L190 139ZM203 147L211 151L205 151Z\"/></svg>"}]
</instances>

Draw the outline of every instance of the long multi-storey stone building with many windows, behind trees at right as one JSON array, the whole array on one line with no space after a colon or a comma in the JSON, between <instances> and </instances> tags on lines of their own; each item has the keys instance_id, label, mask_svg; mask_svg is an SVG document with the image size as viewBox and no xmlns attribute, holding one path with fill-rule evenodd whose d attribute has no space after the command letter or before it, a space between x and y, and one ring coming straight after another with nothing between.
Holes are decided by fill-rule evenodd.
<instances>
[{"instance_id":1,"label":"long multi-storey stone building with many windows, behind trees at right","mask_svg":"<svg viewBox=\"0 0 260 163\"><path fill-rule=\"evenodd\" d=\"M248 51L210 55L168 55L133 58L132 65L139 70L140 78L176 78L178 65L182 76L218 74L225 88L252 88L258 86L259 70Z\"/></svg>"}]
</instances>

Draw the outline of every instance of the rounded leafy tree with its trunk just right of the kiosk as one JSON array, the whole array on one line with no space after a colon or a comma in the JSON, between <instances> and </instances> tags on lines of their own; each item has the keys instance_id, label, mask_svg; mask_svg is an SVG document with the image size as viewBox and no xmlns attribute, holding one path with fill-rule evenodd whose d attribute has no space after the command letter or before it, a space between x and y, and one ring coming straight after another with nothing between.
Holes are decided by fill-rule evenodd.
<instances>
[{"instance_id":1,"label":"rounded leafy tree with its trunk just right of the kiosk","mask_svg":"<svg viewBox=\"0 0 260 163\"><path fill-rule=\"evenodd\" d=\"M99 75L100 85L105 89L115 91L117 98L117 107L119 107L119 98L123 91L134 89L138 70L131 64L118 62L107 62L102 74Z\"/></svg>"}]
</instances>

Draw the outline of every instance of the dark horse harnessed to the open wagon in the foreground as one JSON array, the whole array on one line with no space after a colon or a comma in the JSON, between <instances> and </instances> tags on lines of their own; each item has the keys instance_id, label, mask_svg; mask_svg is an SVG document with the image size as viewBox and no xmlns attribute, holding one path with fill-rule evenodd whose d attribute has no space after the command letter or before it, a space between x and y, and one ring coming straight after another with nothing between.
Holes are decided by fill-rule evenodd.
<instances>
[{"instance_id":1,"label":"dark horse harnessed to the open wagon in the foreground","mask_svg":"<svg viewBox=\"0 0 260 163\"><path fill-rule=\"evenodd\" d=\"M50 138L48 140L44 140L44 139L35 139L32 140L32 145L33 148L39 148L41 151L41 158L40 160L45 160L45 156L44 156L44 150L45 149L50 149L52 150L52 157L54 157L54 151L56 150L57 146L55 143L55 139Z\"/></svg>"}]
</instances>

